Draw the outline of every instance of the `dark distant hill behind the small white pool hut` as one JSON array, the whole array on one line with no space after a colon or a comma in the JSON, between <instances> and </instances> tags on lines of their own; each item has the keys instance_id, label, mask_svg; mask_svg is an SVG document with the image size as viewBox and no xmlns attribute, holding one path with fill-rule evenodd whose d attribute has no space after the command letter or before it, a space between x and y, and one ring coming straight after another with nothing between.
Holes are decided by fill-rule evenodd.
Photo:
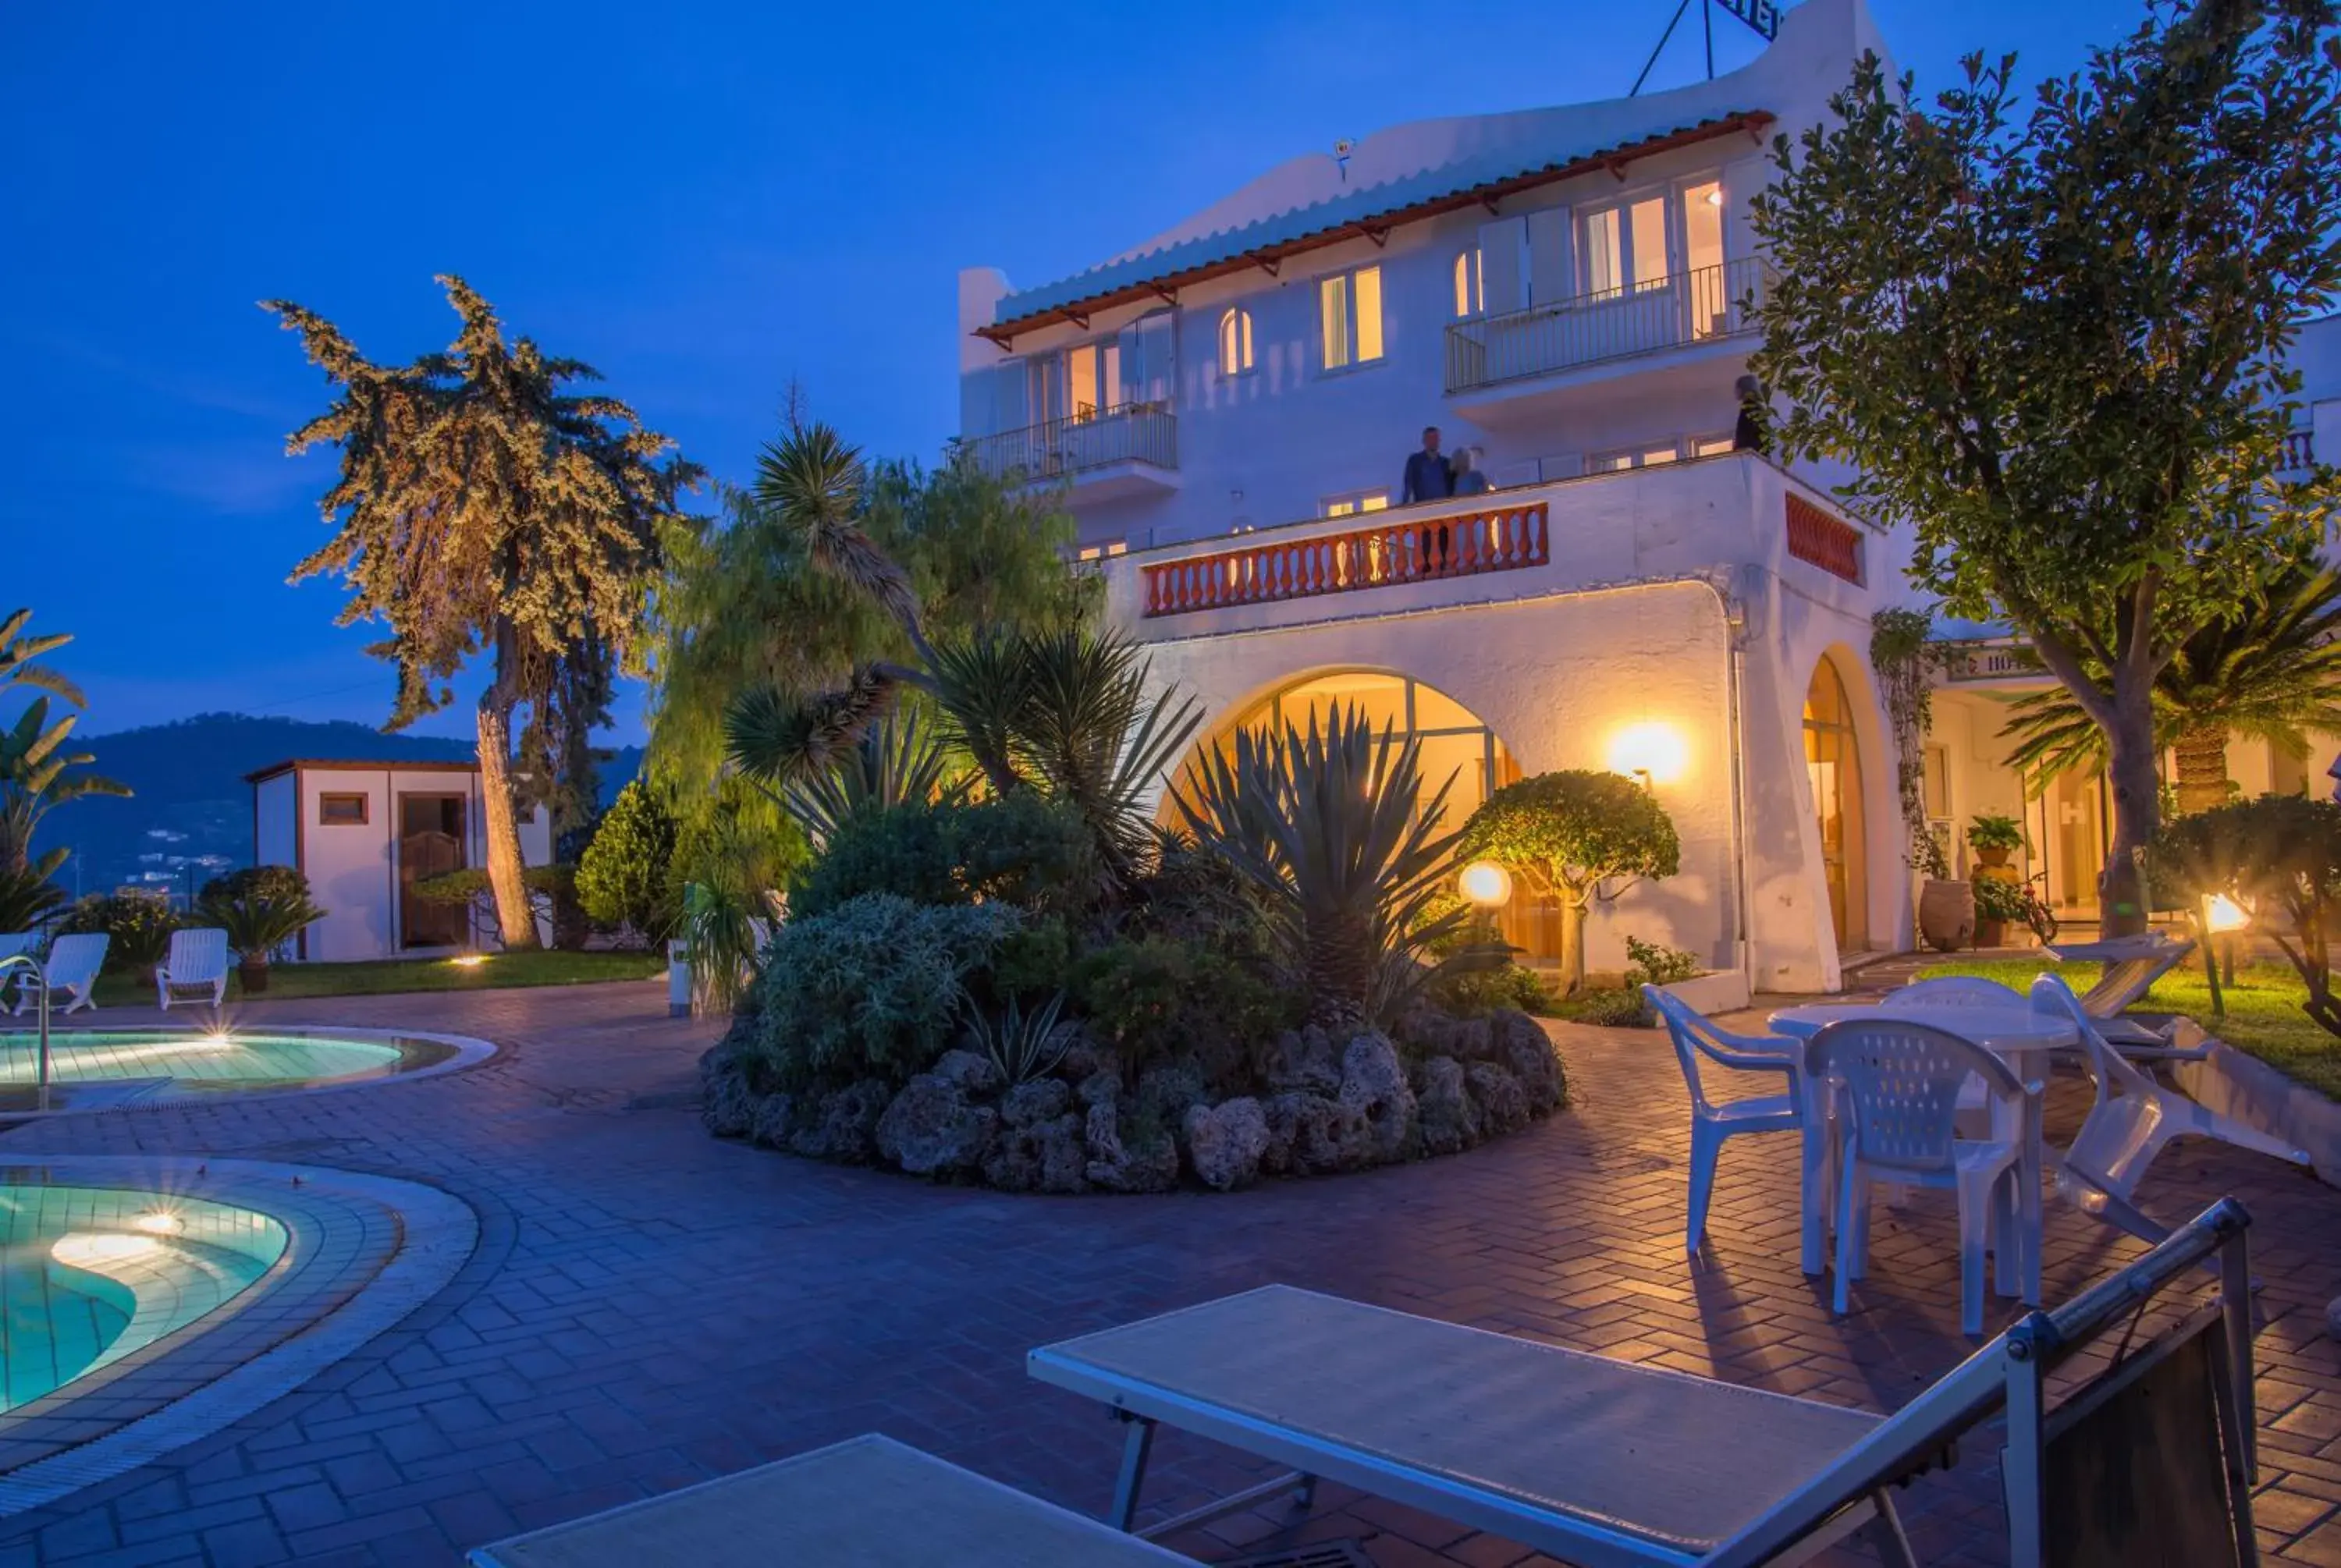
<instances>
[{"instance_id":1,"label":"dark distant hill behind the small white pool hut","mask_svg":"<svg viewBox=\"0 0 2341 1568\"><path fill-rule=\"evenodd\" d=\"M466 761L468 740L384 735L346 718L255 718L199 714L115 735L75 735L96 754L96 772L131 786L129 800L75 800L49 814L40 845L70 845L59 873L68 892L105 892L152 882L187 892L232 866L253 861L253 791L243 775L290 758L349 763ZM641 765L625 747L602 765L609 803Z\"/></svg>"}]
</instances>

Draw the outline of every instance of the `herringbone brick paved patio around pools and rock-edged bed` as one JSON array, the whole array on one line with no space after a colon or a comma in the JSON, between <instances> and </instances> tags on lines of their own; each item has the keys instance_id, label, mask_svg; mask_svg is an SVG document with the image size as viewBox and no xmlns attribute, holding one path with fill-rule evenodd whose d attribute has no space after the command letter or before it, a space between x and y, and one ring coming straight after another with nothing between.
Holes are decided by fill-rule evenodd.
<instances>
[{"instance_id":1,"label":"herringbone brick paved patio around pools and rock-edged bed","mask_svg":"<svg viewBox=\"0 0 2341 1568\"><path fill-rule=\"evenodd\" d=\"M1826 1313L1796 1268L1786 1140L1725 1154L1716 1245L1688 1261L1686 1102L1655 1034L1554 1025L1575 1109L1458 1158L1236 1196L1011 1198L705 1137L693 1062L714 1030L663 1013L658 983L255 1004L250 1020L438 1027L506 1053L419 1084L0 1137L12 1163L218 1154L426 1180L471 1201L485 1238L438 1301L300 1392L0 1524L0 1568L452 1563L517 1528L866 1430L1093 1512L1114 1430L1030 1383L1023 1353L1269 1280L1870 1409L1971 1348L1950 1215L1924 1198L1880 1210L1856 1311ZM2053 1137L2081 1102L2086 1088L2060 1084ZM2322 1334L2341 1297L2341 1194L2179 1147L2142 1201L2177 1219L2222 1191L2259 1222L2261 1535L2280 1561L2341 1566L2341 1348ZM2051 1297L2130 1252L2051 1205ZM1992 1327L2006 1304L1995 1311ZM1997 1561L1988 1446L1915 1488L1929 1563ZM1156 1456L1166 1507L1257 1474L1178 1435ZM1173 1545L1227 1559L1362 1538L1381 1568L1545 1561L1334 1488L1306 1519L1215 1528Z\"/></svg>"}]
</instances>

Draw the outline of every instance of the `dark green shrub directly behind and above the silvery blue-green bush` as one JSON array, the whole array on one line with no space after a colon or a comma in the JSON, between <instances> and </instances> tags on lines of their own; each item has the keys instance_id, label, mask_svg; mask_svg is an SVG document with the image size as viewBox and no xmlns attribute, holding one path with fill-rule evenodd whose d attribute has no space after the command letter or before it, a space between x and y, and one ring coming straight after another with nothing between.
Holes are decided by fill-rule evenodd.
<instances>
[{"instance_id":1,"label":"dark green shrub directly behind and above the silvery blue-green bush","mask_svg":"<svg viewBox=\"0 0 2341 1568\"><path fill-rule=\"evenodd\" d=\"M798 878L789 908L822 915L866 894L1063 908L1086 903L1096 878L1082 817L1018 789L974 805L918 800L854 812Z\"/></svg>"}]
</instances>

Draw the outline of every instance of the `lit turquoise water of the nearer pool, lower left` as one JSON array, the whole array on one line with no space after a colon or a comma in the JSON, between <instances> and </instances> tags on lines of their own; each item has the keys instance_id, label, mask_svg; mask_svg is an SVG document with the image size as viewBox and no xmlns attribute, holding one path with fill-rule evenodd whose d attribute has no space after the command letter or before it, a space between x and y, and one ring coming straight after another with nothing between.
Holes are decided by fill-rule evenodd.
<instances>
[{"instance_id":1,"label":"lit turquoise water of the nearer pool, lower left","mask_svg":"<svg viewBox=\"0 0 2341 1568\"><path fill-rule=\"evenodd\" d=\"M206 1318L288 1245L267 1215L112 1187L0 1187L0 1411Z\"/></svg>"}]
</instances>

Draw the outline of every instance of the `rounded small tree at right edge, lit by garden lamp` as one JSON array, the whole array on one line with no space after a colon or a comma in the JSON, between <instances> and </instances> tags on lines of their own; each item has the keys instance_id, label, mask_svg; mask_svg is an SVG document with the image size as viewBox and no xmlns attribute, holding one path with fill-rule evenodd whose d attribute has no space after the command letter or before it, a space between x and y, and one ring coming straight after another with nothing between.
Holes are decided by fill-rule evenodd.
<instances>
[{"instance_id":1,"label":"rounded small tree at right edge, lit by garden lamp","mask_svg":"<svg viewBox=\"0 0 2341 1568\"><path fill-rule=\"evenodd\" d=\"M2341 805L2261 796L2179 817L2154 843L2158 878L2194 899L2226 894L2301 976L2301 1011L2341 1034L2327 941L2341 917ZM2282 915L2282 920L2271 920ZM2205 967L2210 953L2203 955Z\"/></svg>"}]
</instances>

